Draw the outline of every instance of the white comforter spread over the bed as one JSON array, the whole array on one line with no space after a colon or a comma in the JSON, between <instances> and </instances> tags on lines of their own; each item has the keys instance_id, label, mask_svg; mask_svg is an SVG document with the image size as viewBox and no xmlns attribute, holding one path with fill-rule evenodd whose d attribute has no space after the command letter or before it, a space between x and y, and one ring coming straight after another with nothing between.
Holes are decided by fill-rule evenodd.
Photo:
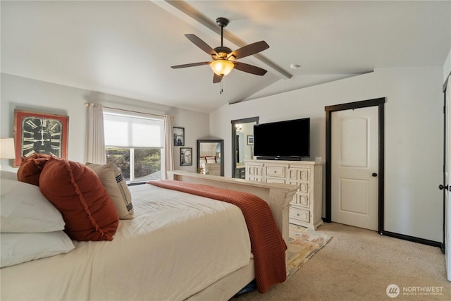
<instances>
[{"instance_id":1,"label":"white comforter spread over the bed","mask_svg":"<svg viewBox=\"0 0 451 301\"><path fill-rule=\"evenodd\" d=\"M238 207L153 185L130 187L135 219L111 242L1 269L1 300L184 300L249 264Z\"/></svg>"}]
</instances>

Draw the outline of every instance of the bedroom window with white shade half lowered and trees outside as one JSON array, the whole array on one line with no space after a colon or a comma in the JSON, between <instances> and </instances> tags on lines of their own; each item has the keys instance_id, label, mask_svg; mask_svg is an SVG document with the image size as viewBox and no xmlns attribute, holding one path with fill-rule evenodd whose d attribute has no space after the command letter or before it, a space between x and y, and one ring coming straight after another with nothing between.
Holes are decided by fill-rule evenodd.
<instances>
[{"instance_id":1,"label":"bedroom window with white shade half lowered and trees outside","mask_svg":"<svg viewBox=\"0 0 451 301\"><path fill-rule=\"evenodd\" d=\"M125 180L161 179L164 164L163 118L104 109L106 161L121 168Z\"/></svg>"}]
</instances>

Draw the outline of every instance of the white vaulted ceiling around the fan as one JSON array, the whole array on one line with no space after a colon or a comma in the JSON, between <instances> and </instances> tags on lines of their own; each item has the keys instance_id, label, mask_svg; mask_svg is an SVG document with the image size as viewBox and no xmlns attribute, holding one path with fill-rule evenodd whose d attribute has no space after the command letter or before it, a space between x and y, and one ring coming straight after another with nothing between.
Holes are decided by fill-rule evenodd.
<instances>
[{"instance_id":1,"label":"white vaulted ceiling around the fan","mask_svg":"<svg viewBox=\"0 0 451 301\"><path fill-rule=\"evenodd\" d=\"M210 112L224 104L369 73L443 66L450 1L1 1L1 72ZM186 37L270 48L213 84L211 58ZM290 64L301 66L291 69Z\"/></svg>"}]
</instances>

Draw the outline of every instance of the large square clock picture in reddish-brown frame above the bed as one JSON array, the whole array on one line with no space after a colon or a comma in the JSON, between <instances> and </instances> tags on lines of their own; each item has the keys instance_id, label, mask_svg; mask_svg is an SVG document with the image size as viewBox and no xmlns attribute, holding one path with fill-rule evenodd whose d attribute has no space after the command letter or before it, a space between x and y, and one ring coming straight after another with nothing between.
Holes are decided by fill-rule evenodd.
<instances>
[{"instance_id":1,"label":"large square clock picture in reddish-brown frame above the bed","mask_svg":"<svg viewBox=\"0 0 451 301\"><path fill-rule=\"evenodd\" d=\"M68 135L69 116L14 110L15 166L35 153L67 159Z\"/></svg>"}]
</instances>

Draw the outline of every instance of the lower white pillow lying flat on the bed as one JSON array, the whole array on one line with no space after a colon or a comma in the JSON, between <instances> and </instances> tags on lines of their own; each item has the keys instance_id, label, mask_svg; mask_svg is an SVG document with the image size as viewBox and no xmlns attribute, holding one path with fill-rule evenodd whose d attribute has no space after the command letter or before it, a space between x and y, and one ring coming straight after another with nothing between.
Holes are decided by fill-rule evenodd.
<instances>
[{"instance_id":1,"label":"lower white pillow lying flat on the bed","mask_svg":"<svg viewBox=\"0 0 451 301\"><path fill-rule=\"evenodd\" d=\"M73 250L63 231L47 233L0 233L0 266L12 266ZM18 279L19 281L19 279Z\"/></svg>"}]
</instances>

